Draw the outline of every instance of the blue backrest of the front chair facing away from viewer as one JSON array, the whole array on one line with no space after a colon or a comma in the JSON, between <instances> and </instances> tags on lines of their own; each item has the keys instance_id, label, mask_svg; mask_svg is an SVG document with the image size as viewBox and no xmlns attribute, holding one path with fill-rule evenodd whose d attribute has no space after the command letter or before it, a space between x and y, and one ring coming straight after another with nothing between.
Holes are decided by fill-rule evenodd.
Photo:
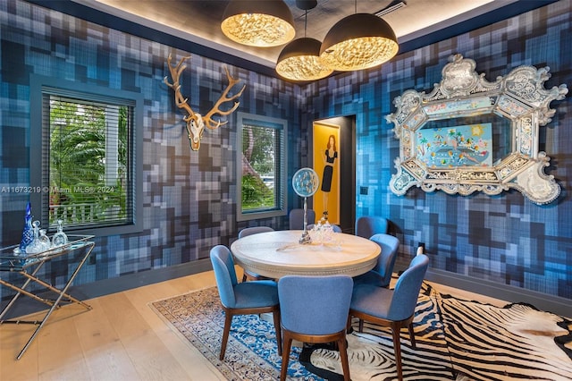
<instances>
[{"instance_id":1,"label":"blue backrest of the front chair facing away from viewer","mask_svg":"<svg viewBox=\"0 0 572 381\"><path fill-rule=\"evenodd\" d=\"M348 275L283 276L278 281L282 327L315 335L344 330L352 290Z\"/></svg>"}]
</instances>

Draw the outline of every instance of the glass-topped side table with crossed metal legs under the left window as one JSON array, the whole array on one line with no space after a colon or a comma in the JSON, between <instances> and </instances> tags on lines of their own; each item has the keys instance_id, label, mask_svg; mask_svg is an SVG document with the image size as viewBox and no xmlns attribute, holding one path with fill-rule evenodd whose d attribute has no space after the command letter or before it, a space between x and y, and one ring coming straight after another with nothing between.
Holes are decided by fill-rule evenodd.
<instances>
[{"instance_id":1,"label":"glass-topped side table with crossed metal legs under the left window","mask_svg":"<svg viewBox=\"0 0 572 381\"><path fill-rule=\"evenodd\" d=\"M24 352L28 349L29 344L32 343L34 338L38 335L38 332L42 327L46 324L47 319L52 315L55 309L60 308L60 304L62 302L73 302L78 303L81 306L85 307L86 309L91 309L91 307L80 301L74 297L72 297L69 293L67 293L68 288L70 287L73 279L78 275L80 272L81 267L86 263L88 260L89 254L96 246L94 241L89 241L93 238L93 235L68 235L68 242L63 246L55 247L50 250L46 250L39 253L29 254L29 255L15 255L13 253L14 248L17 248L19 245L9 246L3 249L0 249L0 272L11 272L17 273L22 276L23 284L11 284L9 282L4 281L0 278L0 285L8 287L16 292L13 298L6 304L2 312L0 312L0 325L2 324L33 324L38 325L34 333L29 338L28 343L24 345L18 356L16 357L17 360L21 359L21 356ZM55 288L53 285L46 283L42 279L40 279L36 274L40 268L42 268L48 261L51 261L54 258L69 256L69 258L74 259L77 261L77 266L73 273L71 273L70 278L63 286L62 289ZM38 296L36 293L29 292L26 288L29 286L30 283L36 283L41 285L44 289L48 289L52 292L57 294L55 300L46 299ZM13 319L5 319L4 317L8 313L8 311L13 307L14 303L18 300L20 295L26 295L30 298L34 299L35 301L40 301L50 309L47 310L46 315L41 320L20 320L17 318Z\"/></svg>"}]
</instances>

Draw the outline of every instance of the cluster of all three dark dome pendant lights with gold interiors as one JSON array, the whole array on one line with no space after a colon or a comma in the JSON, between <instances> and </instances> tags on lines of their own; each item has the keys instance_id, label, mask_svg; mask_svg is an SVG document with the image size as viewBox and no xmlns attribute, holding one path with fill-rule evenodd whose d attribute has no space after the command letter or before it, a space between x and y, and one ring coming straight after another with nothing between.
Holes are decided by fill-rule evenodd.
<instances>
[{"instance_id":1,"label":"cluster of all three dark dome pendant lights with gold interiors","mask_svg":"<svg viewBox=\"0 0 572 381\"><path fill-rule=\"evenodd\" d=\"M383 10L399 9L392 5L396 2ZM370 69L397 55L399 45L391 26L378 15L357 13L357 0L354 14L336 22L322 43L306 37L307 11L317 1L296 0L296 4L306 11L304 38L292 41L296 35L294 19L282 0L231 0L224 10L221 29L226 37L251 47L288 44L276 63L276 72L286 80L320 80L334 71ZM405 6L405 1L399 4Z\"/></svg>"}]
</instances>

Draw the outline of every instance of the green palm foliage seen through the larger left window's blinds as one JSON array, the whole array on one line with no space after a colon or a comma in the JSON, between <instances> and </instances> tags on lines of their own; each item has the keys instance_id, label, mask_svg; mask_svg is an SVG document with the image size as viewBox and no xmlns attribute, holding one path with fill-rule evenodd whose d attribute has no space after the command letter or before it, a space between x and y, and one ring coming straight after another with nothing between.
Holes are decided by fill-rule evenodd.
<instances>
[{"instance_id":1,"label":"green palm foliage seen through the larger left window's blinds","mask_svg":"<svg viewBox=\"0 0 572 381\"><path fill-rule=\"evenodd\" d=\"M50 97L50 225L58 219L69 226L126 218L128 111ZM113 148L106 148L111 141Z\"/></svg>"}]
</instances>

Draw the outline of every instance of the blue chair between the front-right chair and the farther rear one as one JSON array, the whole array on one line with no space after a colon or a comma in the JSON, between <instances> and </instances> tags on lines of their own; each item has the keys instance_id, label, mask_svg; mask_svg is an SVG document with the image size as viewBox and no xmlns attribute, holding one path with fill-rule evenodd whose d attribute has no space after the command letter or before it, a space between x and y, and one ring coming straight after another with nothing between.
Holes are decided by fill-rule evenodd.
<instances>
[{"instance_id":1,"label":"blue chair between the front-right chair and the farther rear one","mask_svg":"<svg viewBox=\"0 0 572 381\"><path fill-rule=\"evenodd\" d=\"M374 234L370 240L381 247L382 253L377 258L377 264L372 270L354 277L354 284L374 284L377 287L389 287L397 251L400 248L400 240L384 233Z\"/></svg>"}]
</instances>

